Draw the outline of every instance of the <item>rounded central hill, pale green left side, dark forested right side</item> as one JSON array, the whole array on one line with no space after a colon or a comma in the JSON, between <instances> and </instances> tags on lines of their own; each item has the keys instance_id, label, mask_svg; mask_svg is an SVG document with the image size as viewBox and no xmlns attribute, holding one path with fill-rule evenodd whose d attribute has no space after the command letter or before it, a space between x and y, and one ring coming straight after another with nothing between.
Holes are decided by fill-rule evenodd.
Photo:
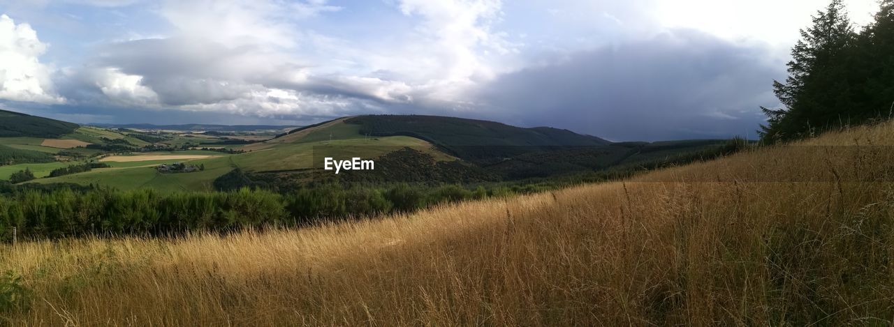
<instances>
[{"instance_id":1,"label":"rounded central hill, pale green left side, dark forested right side","mask_svg":"<svg viewBox=\"0 0 894 327\"><path fill-rule=\"evenodd\" d=\"M389 140L401 138L417 139L423 143L389 143ZM632 171L662 164L684 163L699 157L712 157L714 152L721 150L725 142L684 140L612 143L602 138L548 127L526 129L500 122L441 116L365 115L344 117L291 130L266 142L243 147L247 151L263 150L263 153L249 153L234 159L244 163L240 167L245 171L276 174L248 176L249 180L290 180L288 182L292 183L296 180L295 176L291 176L294 173L283 171L307 174L306 170L310 166L295 164L299 162L297 157L283 154L283 151L308 152L327 145L326 148L330 148L331 153L356 153L357 149L353 147L362 145L375 147L375 154L370 155L378 158L382 169L375 172L346 173L340 176L340 180L474 183L549 178L608 169ZM433 155L436 160L430 161L425 155L401 151L405 146ZM400 151L405 157L401 159L394 155L385 155L396 151ZM264 159L247 160L251 157ZM438 163L457 159L460 159L460 164ZM261 164L265 168L255 168ZM412 164L417 166L411 166ZM246 180L244 177L232 180ZM235 187L238 185L230 188Z\"/></svg>"}]
</instances>

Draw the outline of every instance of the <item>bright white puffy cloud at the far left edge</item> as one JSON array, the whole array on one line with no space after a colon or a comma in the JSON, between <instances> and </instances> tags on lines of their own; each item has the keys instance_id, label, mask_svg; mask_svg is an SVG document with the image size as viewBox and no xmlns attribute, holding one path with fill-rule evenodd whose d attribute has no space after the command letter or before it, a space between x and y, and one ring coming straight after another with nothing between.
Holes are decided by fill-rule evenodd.
<instances>
[{"instance_id":1,"label":"bright white puffy cloud at the far left edge","mask_svg":"<svg viewBox=\"0 0 894 327\"><path fill-rule=\"evenodd\" d=\"M55 95L52 69L38 57L47 45L27 23L16 24L0 15L0 98L56 104L64 99Z\"/></svg>"}]
</instances>

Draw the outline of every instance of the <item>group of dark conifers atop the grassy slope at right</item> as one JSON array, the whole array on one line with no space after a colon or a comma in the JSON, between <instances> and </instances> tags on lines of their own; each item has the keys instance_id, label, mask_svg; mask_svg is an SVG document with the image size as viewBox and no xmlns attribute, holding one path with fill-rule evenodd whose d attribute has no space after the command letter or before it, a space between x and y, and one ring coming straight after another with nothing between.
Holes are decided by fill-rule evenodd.
<instances>
[{"instance_id":1,"label":"group of dark conifers atop the grassy slope at right","mask_svg":"<svg viewBox=\"0 0 894 327\"><path fill-rule=\"evenodd\" d=\"M761 108L762 141L813 136L823 130L894 116L894 0L882 0L874 21L856 31L842 0L833 0L801 30L789 77L774 81L782 107Z\"/></svg>"}]
</instances>

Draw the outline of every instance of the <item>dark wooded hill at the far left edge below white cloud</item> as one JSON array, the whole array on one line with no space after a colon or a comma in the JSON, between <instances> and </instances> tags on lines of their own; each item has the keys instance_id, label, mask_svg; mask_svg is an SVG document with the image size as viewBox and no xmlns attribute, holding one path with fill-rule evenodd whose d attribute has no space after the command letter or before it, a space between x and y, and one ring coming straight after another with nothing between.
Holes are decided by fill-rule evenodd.
<instances>
[{"instance_id":1,"label":"dark wooded hill at the far left edge below white cloud","mask_svg":"<svg viewBox=\"0 0 894 327\"><path fill-rule=\"evenodd\" d=\"M59 138L79 127L73 122L0 110L0 138Z\"/></svg>"}]
</instances>

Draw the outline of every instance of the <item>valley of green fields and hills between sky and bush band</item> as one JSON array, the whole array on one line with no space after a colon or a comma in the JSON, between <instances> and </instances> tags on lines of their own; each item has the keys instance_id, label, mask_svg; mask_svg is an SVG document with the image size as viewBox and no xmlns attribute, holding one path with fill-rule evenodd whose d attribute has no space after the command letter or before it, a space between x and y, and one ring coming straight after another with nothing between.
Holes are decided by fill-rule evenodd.
<instances>
[{"instance_id":1,"label":"valley of green fields and hills between sky and bush band","mask_svg":"<svg viewBox=\"0 0 894 327\"><path fill-rule=\"evenodd\" d=\"M77 127L60 135L60 138L0 138L2 146L56 158L52 163L0 166L0 180L8 179L13 172L29 169L38 177L31 182L38 184L73 183L122 190L208 191L215 190L215 180L235 169L251 174L288 175L283 177L287 180L314 180L316 177L309 176L308 171L320 168L325 156L378 158L409 148L431 156L435 163L456 162L460 171L468 171L460 174L479 176L468 181L481 183L611 169L633 172L653 165L713 157L727 142L612 143L568 130L522 129L497 122L436 116L346 117L299 129L260 126L257 128L265 130L249 130L253 127L241 126L230 128L239 131L226 132L222 130L227 127L215 125L213 131L182 130L201 126L184 125L181 130ZM279 133L280 130L286 131ZM48 147L50 145L52 147ZM62 163L91 160L109 164L111 168L46 178L50 171L65 165ZM153 164L177 161L202 164L207 169L198 173L163 176L151 167ZM372 174L375 175L375 172ZM377 180L379 183L455 181L431 180L428 179L430 176L419 180L395 180L392 177L380 175L365 177L364 180ZM239 188L240 185L230 187Z\"/></svg>"}]
</instances>

